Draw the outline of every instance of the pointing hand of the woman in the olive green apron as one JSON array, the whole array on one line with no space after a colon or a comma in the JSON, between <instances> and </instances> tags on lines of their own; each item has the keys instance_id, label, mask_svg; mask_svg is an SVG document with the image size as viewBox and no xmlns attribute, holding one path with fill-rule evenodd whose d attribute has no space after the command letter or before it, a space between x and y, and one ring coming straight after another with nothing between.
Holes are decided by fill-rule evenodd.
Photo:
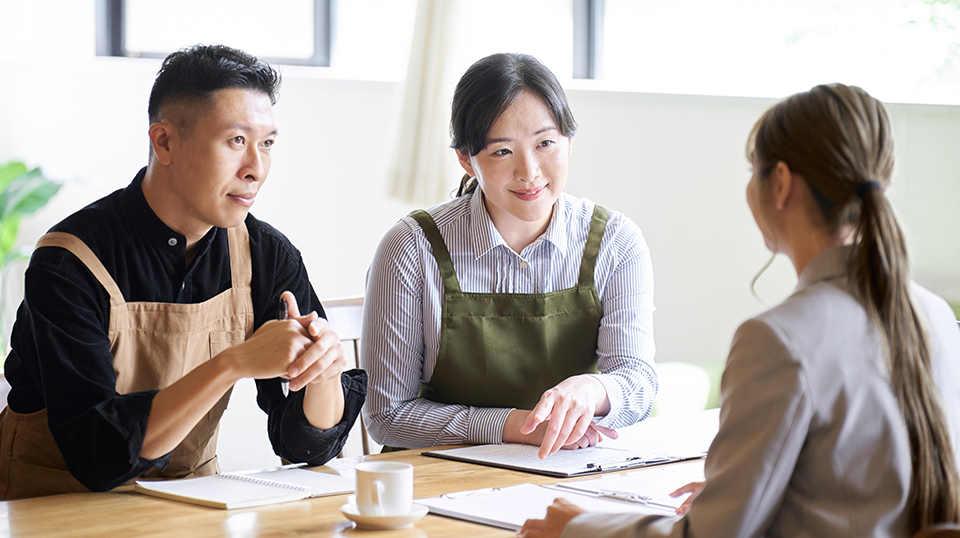
<instances>
[{"instance_id":1,"label":"pointing hand of the woman in the olive green apron","mask_svg":"<svg viewBox=\"0 0 960 538\"><path fill-rule=\"evenodd\" d=\"M539 443L540 459L561 448L596 445L603 440L603 435L616 439L616 431L593 423L593 417L606 414L609 406L600 380L592 375L570 377L543 393L520 427L520 434L535 434L538 426L546 425ZM538 435L534 440L536 437Z\"/></svg>"}]
</instances>

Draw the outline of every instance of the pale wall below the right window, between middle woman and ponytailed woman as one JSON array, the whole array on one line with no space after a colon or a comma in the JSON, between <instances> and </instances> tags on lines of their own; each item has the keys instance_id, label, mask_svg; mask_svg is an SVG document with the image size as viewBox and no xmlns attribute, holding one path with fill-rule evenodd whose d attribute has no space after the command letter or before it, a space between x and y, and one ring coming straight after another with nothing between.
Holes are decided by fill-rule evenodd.
<instances>
[{"instance_id":1,"label":"pale wall below the right window, between middle woman and ponytailed woman","mask_svg":"<svg viewBox=\"0 0 960 538\"><path fill-rule=\"evenodd\" d=\"M749 282L769 257L746 205L747 134L772 100L568 91L580 130L567 190L625 212L656 276L658 360L725 357L763 309ZM960 107L888 106L898 171L890 196L915 278L960 301ZM770 304L796 276L779 257L757 289Z\"/></svg>"}]
</instances>

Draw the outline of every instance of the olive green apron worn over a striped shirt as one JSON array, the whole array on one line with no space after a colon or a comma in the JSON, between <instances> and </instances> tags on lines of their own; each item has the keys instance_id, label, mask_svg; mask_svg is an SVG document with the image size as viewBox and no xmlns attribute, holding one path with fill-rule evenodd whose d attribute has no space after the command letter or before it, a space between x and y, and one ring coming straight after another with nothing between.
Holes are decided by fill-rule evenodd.
<instances>
[{"instance_id":1,"label":"olive green apron worn over a striped shirt","mask_svg":"<svg viewBox=\"0 0 960 538\"><path fill-rule=\"evenodd\" d=\"M594 209L577 285L550 293L461 291L436 223L425 211L411 216L430 241L443 279L440 349L421 397L533 409L564 379L597 372L603 307L593 273L609 211Z\"/></svg>"}]
</instances>

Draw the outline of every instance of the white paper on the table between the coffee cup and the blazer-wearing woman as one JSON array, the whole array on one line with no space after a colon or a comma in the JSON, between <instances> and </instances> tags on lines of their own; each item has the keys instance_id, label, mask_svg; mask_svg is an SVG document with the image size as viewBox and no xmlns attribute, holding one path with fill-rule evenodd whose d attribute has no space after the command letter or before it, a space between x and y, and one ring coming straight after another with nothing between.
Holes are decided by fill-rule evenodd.
<instances>
[{"instance_id":1,"label":"white paper on the table between the coffee cup and the blazer-wearing woman","mask_svg":"<svg viewBox=\"0 0 960 538\"><path fill-rule=\"evenodd\" d=\"M639 512L658 515L673 513L672 510L636 502L533 484L461 491L440 497L417 499L415 502L429 507L431 514L517 531L527 519L546 516L547 507L558 497L592 512Z\"/></svg>"}]
</instances>

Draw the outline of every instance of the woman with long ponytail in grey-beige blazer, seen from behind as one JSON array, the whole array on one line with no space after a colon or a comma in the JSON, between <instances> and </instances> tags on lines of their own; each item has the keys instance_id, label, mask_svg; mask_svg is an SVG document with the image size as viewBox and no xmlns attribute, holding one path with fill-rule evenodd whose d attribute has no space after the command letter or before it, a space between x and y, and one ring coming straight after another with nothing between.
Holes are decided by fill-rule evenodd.
<instances>
[{"instance_id":1,"label":"woman with long ponytail in grey-beige blazer, seen from behind","mask_svg":"<svg viewBox=\"0 0 960 538\"><path fill-rule=\"evenodd\" d=\"M734 336L706 481L678 491L678 516L558 501L521 536L909 537L958 522L960 331L910 280L886 110L817 86L768 110L747 152L750 210L799 284Z\"/></svg>"}]
</instances>

